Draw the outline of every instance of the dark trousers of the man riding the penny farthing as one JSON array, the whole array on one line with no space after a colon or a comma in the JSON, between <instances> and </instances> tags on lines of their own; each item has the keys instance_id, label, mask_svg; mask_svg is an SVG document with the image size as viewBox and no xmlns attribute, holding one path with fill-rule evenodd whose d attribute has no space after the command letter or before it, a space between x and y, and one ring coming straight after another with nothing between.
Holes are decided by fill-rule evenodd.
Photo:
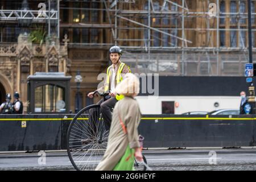
<instances>
[{"instance_id":1,"label":"dark trousers of the man riding the penny farthing","mask_svg":"<svg viewBox=\"0 0 256 182\"><path fill-rule=\"evenodd\" d=\"M115 106L117 103L117 99L115 97L111 97L106 101L103 101L104 99L102 98L100 101L97 102L98 105L100 105L100 110L102 113L102 117L104 119L104 126L105 129L109 131L111 121L112 121L112 108ZM90 127L89 127L89 133L90 135L95 135L96 133L96 126L95 122L97 122L97 118L99 117L99 110L98 109L90 109L89 110L89 122L90 122Z\"/></svg>"}]
</instances>

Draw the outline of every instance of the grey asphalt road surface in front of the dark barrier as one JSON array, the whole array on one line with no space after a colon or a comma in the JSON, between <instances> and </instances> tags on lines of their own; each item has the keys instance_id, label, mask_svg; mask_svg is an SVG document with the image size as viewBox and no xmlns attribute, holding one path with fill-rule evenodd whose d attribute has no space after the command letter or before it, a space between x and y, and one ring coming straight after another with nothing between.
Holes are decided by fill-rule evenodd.
<instances>
[{"instance_id":1,"label":"grey asphalt road surface in front of the dark barrier","mask_svg":"<svg viewBox=\"0 0 256 182\"><path fill-rule=\"evenodd\" d=\"M154 171L256 170L256 148L186 148L143 150ZM44 158L45 156L45 158ZM0 171L75 170L67 151L0 152Z\"/></svg>"}]
</instances>

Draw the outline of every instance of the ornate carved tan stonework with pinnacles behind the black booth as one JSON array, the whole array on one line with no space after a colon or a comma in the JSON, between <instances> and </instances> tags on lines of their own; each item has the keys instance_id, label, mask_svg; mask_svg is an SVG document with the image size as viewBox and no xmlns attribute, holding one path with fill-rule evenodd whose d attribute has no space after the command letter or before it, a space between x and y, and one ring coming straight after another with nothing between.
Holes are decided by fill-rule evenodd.
<instances>
[{"instance_id":1,"label":"ornate carved tan stonework with pinnacles behind the black booth","mask_svg":"<svg viewBox=\"0 0 256 182\"><path fill-rule=\"evenodd\" d=\"M56 41L55 44L53 44L53 41ZM27 93L23 88L26 87L26 78L31 69L34 73L45 72L46 66L57 67L59 60L64 59L66 60L66 67L71 67L67 47L60 46L58 41L57 39L51 39L48 45L42 44L42 46L38 46L32 45L27 36L22 35L18 38L18 44L0 45L0 73L7 80L6 84L8 86L6 88L9 88L8 92L19 90L21 100L26 99L24 96ZM46 59L48 60L48 65L46 65ZM18 68L18 63L20 63L20 68ZM66 69L67 71L68 69ZM0 79L0 82L2 80Z\"/></svg>"}]
</instances>

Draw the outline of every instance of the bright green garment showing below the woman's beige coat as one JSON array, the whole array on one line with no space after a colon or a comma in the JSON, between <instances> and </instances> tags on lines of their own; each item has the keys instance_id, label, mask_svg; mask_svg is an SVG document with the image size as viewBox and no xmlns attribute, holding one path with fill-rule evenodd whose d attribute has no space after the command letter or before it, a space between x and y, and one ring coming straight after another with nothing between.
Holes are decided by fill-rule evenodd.
<instances>
[{"instance_id":1,"label":"bright green garment showing below the woman's beige coat","mask_svg":"<svg viewBox=\"0 0 256 182\"><path fill-rule=\"evenodd\" d=\"M135 171L134 169L134 149L130 148L129 144L126 148L125 154L115 165L113 171Z\"/></svg>"}]
</instances>

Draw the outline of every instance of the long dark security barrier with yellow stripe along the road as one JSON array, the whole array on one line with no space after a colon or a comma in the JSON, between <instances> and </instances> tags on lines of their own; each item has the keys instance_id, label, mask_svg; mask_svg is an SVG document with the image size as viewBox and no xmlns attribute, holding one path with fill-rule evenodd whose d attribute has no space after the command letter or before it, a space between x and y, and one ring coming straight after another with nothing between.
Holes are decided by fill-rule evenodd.
<instances>
[{"instance_id":1,"label":"long dark security barrier with yellow stripe along the road","mask_svg":"<svg viewBox=\"0 0 256 182\"><path fill-rule=\"evenodd\" d=\"M66 149L74 114L0 115L0 151ZM255 146L256 115L143 115L144 147Z\"/></svg>"}]
</instances>

